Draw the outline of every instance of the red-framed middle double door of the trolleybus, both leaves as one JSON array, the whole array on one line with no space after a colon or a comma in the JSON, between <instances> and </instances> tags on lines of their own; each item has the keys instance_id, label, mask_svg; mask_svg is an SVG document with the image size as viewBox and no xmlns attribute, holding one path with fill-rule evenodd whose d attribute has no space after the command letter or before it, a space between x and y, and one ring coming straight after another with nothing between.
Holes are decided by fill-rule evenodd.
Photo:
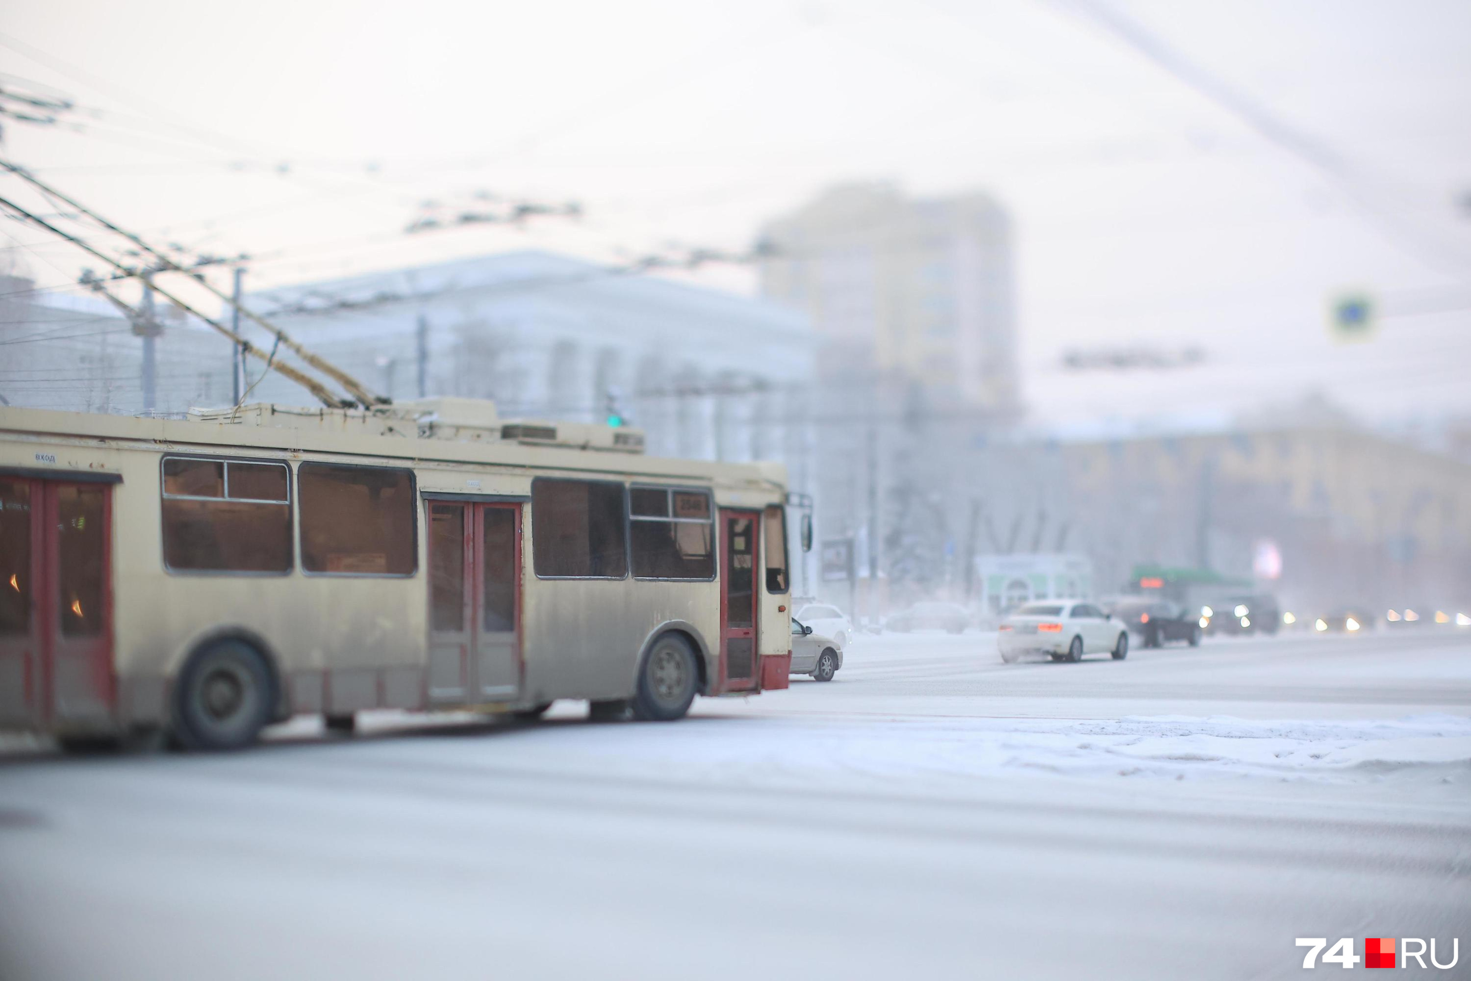
<instances>
[{"instance_id":1,"label":"red-framed middle double door of the trolleybus, both leaves","mask_svg":"<svg viewBox=\"0 0 1471 981\"><path fill-rule=\"evenodd\" d=\"M521 507L430 500L430 703L521 690Z\"/></svg>"}]
</instances>

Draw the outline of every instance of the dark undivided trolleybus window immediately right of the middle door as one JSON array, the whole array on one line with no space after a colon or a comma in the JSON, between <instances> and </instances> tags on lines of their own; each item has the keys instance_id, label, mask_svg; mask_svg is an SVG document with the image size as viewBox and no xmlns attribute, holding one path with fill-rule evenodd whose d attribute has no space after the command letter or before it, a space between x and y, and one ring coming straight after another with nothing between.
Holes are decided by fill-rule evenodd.
<instances>
[{"instance_id":1,"label":"dark undivided trolleybus window immediately right of the middle door","mask_svg":"<svg viewBox=\"0 0 1471 981\"><path fill-rule=\"evenodd\" d=\"M610 481L531 481L531 552L537 575L622 579L628 575L624 485Z\"/></svg>"}]
</instances>

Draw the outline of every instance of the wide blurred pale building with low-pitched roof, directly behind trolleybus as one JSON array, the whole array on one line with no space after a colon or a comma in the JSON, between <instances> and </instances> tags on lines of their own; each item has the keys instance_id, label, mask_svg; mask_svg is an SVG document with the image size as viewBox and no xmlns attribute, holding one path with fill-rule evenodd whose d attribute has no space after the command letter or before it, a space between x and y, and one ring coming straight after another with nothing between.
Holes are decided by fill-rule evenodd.
<instances>
[{"instance_id":1,"label":"wide blurred pale building with low-pitched roof, directly behind trolleybus","mask_svg":"<svg viewBox=\"0 0 1471 981\"><path fill-rule=\"evenodd\" d=\"M800 488L815 338L774 303L522 252L266 290L247 306L393 399L616 415L652 454L783 460ZM250 400L303 396L268 375Z\"/></svg>"}]
</instances>

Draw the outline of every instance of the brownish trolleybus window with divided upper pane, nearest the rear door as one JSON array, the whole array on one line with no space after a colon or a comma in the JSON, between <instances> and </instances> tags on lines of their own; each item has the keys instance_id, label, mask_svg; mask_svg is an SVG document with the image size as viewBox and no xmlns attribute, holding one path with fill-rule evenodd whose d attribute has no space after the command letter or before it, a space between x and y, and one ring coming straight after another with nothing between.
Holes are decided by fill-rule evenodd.
<instances>
[{"instance_id":1,"label":"brownish trolleybus window with divided upper pane, nearest the rear door","mask_svg":"<svg viewBox=\"0 0 1471 981\"><path fill-rule=\"evenodd\" d=\"M290 572L284 463L163 457L163 565L172 572Z\"/></svg>"}]
</instances>

